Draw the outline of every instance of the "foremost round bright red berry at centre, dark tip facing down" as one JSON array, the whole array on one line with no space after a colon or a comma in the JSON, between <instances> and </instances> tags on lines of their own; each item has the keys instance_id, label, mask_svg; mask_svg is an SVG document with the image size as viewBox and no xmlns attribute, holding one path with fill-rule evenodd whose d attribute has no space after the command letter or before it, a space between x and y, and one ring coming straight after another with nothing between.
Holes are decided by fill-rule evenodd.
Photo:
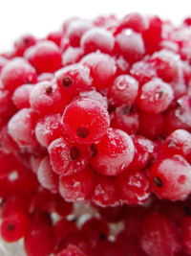
<instances>
[{"instance_id":1,"label":"foremost round bright red berry at centre, dark tip facing down","mask_svg":"<svg viewBox=\"0 0 191 256\"><path fill-rule=\"evenodd\" d=\"M106 133L110 118L103 105L94 100L79 99L65 108L62 124L74 142L92 144Z\"/></svg>"}]
</instances>

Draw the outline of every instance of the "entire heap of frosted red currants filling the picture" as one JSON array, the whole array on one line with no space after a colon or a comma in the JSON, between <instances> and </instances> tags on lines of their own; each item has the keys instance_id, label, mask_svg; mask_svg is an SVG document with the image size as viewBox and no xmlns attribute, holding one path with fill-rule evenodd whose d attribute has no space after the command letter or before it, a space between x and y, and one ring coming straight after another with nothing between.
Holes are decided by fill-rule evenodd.
<instances>
[{"instance_id":1,"label":"entire heap of frosted red currants filling the picture","mask_svg":"<svg viewBox=\"0 0 191 256\"><path fill-rule=\"evenodd\" d=\"M191 18L68 19L0 55L0 233L28 256L191 255Z\"/></svg>"}]
</instances>

